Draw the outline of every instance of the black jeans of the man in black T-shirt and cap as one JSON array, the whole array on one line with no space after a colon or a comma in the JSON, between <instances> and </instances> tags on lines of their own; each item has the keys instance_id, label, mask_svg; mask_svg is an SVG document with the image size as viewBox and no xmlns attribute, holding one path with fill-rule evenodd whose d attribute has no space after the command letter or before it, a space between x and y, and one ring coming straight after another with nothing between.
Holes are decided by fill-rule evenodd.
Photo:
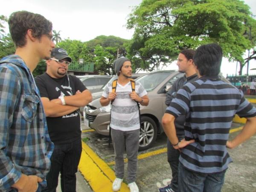
<instances>
[{"instance_id":1,"label":"black jeans of the man in black T-shirt and cap","mask_svg":"<svg viewBox=\"0 0 256 192\"><path fill-rule=\"evenodd\" d=\"M43 192L56 192L58 175L61 173L61 191L76 192L76 172L81 156L81 140L72 143L54 145L51 168L48 173L47 187Z\"/></svg>"}]
</instances>

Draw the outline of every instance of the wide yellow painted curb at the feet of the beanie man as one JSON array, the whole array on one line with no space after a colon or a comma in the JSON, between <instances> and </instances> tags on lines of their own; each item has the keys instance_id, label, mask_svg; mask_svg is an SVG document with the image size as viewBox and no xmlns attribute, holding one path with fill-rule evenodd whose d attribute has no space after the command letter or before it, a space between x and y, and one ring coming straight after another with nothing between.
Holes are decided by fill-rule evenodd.
<instances>
[{"instance_id":1,"label":"wide yellow painted curb at the feet of the beanie man","mask_svg":"<svg viewBox=\"0 0 256 192\"><path fill-rule=\"evenodd\" d=\"M116 177L113 170L84 142L78 168L94 192L112 192L112 183ZM122 183L119 191L130 192L130 189Z\"/></svg>"}]
</instances>

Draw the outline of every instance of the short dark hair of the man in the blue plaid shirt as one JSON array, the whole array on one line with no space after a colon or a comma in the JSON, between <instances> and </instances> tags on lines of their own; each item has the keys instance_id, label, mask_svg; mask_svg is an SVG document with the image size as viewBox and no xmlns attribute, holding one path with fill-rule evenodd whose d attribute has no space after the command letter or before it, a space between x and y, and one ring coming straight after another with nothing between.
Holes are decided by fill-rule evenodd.
<instances>
[{"instance_id":1,"label":"short dark hair of the man in the blue plaid shirt","mask_svg":"<svg viewBox=\"0 0 256 192\"><path fill-rule=\"evenodd\" d=\"M32 35L41 39L42 35L47 35L52 31L52 22L44 16L27 12L14 12L8 20L9 31L16 47L24 47L26 45L26 33L28 29L32 29Z\"/></svg>"}]
</instances>

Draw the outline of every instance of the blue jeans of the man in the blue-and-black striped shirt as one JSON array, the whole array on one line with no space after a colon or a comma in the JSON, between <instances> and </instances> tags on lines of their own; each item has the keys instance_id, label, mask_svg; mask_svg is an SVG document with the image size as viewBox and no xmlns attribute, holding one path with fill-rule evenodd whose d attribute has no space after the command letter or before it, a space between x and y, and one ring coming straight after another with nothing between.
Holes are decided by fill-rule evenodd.
<instances>
[{"instance_id":1,"label":"blue jeans of the man in the blue-and-black striped shirt","mask_svg":"<svg viewBox=\"0 0 256 192\"><path fill-rule=\"evenodd\" d=\"M186 169L180 163L178 168L179 192L221 192L225 172L196 173Z\"/></svg>"}]
</instances>

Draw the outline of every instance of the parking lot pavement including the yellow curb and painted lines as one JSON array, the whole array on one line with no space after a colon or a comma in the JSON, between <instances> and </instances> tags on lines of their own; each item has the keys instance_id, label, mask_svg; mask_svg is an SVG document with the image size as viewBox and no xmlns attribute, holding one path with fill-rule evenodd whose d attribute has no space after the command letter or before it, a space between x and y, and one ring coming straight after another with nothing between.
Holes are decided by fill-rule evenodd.
<instances>
[{"instance_id":1,"label":"parking lot pavement including the yellow curb and painted lines","mask_svg":"<svg viewBox=\"0 0 256 192\"><path fill-rule=\"evenodd\" d=\"M239 127L241 124L233 124L230 138L239 133L241 130ZM84 130L82 138L86 138L84 140L87 141L83 145L83 154L85 154L81 157L79 169L87 181L78 183L78 191L79 188L87 187L83 191L111 192L111 184L115 178L114 151L112 145L108 146L108 137L99 135L93 130ZM253 136L238 148L229 150L233 163L230 163L227 170L222 192L256 192L255 148L256 136ZM171 180L164 134L157 137L151 149L140 151L138 158L137 184L140 192L157 192L159 187L166 185ZM78 177L80 178L81 175ZM124 182L126 182L125 178ZM84 186L81 187L81 185ZM127 185L123 184L120 191L125 192L129 189Z\"/></svg>"}]
</instances>

